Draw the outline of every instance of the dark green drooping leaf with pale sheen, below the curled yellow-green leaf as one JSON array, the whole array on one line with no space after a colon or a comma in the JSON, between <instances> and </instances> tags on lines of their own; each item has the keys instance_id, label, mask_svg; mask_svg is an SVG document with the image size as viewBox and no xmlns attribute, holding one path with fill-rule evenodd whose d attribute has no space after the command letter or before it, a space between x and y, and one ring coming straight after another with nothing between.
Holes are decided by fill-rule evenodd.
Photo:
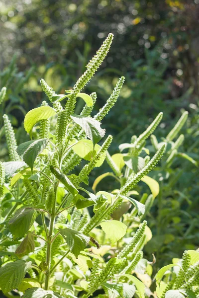
<instances>
[{"instance_id":1,"label":"dark green drooping leaf with pale sheen, below the curled yellow-green leaf","mask_svg":"<svg viewBox=\"0 0 199 298\"><path fill-rule=\"evenodd\" d=\"M29 165L31 170L33 170L35 159L37 158L39 153L41 153L43 149L46 148L48 142L49 139L39 139L22 143L18 146L17 153Z\"/></svg>"}]
</instances>

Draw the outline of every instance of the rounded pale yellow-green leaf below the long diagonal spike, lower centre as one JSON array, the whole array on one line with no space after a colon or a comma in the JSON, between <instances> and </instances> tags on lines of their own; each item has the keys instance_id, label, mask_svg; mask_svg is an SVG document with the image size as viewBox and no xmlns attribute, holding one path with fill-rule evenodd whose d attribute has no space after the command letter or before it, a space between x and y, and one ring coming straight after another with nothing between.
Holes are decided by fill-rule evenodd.
<instances>
[{"instance_id":1,"label":"rounded pale yellow-green leaf below the long diagonal spike, lower centre","mask_svg":"<svg viewBox=\"0 0 199 298\"><path fill-rule=\"evenodd\" d=\"M127 226L119 221L106 221L100 223L100 226L112 244L121 239L125 233Z\"/></svg>"}]
</instances>

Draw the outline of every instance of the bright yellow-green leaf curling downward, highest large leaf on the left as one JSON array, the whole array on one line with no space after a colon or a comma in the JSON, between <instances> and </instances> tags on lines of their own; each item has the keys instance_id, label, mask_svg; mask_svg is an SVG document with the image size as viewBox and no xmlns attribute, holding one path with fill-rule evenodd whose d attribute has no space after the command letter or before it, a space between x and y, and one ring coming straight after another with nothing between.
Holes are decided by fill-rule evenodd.
<instances>
[{"instance_id":1,"label":"bright yellow-green leaf curling downward, highest large leaf on the left","mask_svg":"<svg viewBox=\"0 0 199 298\"><path fill-rule=\"evenodd\" d=\"M56 115L55 110L49 106L41 106L29 111L24 118L24 128L30 135L30 138L32 139L32 128L37 122L48 119L54 115Z\"/></svg>"}]
</instances>

